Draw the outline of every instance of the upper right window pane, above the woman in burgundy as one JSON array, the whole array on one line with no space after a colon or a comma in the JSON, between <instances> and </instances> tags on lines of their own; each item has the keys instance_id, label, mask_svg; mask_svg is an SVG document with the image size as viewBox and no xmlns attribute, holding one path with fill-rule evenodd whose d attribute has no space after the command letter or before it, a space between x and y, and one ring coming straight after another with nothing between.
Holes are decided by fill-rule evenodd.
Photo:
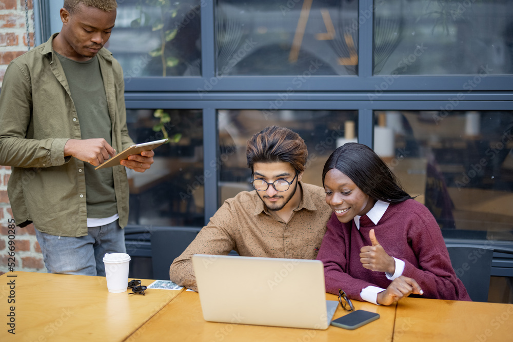
<instances>
[{"instance_id":1,"label":"upper right window pane, above the woman in burgundy","mask_svg":"<svg viewBox=\"0 0 513 342\"><path fill-rule=\"evenodd\" d=\"M375 75L513 73L513 2L387 0L374 14Z\"/></svg>"}]
</instances>

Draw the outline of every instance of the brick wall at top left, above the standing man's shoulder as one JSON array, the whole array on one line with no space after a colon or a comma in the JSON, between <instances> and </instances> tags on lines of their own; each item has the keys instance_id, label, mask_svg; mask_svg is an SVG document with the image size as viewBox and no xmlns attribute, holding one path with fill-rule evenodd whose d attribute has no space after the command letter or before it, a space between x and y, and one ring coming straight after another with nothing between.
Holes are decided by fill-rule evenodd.
<instances>
[{"instance_id":1,"label":"brick wall at top left, above the standing man's shoulder","mask_svg":"<svg viewBox=\"0 0 513 342\"><path fill-rule=\"evenodd\" d=\"M34 10L28 1L30 46L34 46ZM14 58L27 52L25 0L0 0L0 87L5 69Z\"/></svg>"}]
</instances>

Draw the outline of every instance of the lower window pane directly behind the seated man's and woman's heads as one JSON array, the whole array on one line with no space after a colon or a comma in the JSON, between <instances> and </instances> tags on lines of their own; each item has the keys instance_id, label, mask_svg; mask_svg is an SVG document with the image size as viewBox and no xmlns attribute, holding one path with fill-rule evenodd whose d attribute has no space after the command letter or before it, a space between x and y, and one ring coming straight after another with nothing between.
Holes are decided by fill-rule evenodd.
<instances>
[{"instance_id":1,"label":"lower window pane directly behind the seated man's and woman's heads","mask_svg":"<svg viewBox=\"0 0 513 342\"><path fill-rule=\"evenodd\" d=\"M287 127L298 133L308 148L303 182L322 186L322 169L331 152L346 142L357 142L357 111L325 110L219 110L219 193L225 199L252 191L246 143L267 126Z\"/></svg>"}]
</instances>

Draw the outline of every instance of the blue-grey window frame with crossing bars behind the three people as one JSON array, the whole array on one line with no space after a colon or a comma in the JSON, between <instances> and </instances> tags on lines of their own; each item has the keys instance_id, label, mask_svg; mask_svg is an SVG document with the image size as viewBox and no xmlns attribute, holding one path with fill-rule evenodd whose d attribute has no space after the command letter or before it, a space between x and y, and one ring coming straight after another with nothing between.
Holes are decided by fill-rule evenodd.
<instances>
[{"instance_id":1,"label":"blue-grey window frame with crossing bars behind the three people","mask_svg":"<svg viewBox=\"0 0 513 342\"><path fill-rule=\"evenodd\" d=\"M128 109L199 109L203 111L204 172L215 174L205 181L205 198L218 197L219 170L212 160L218 158L219 109L268 110L293 85L297 76L217 76L215 74L215 4L199 0L201 6L202 76L141 77L125 80ZM122 4L120 4L123 6ZM40 15L41 43L51 28L61 22L58 10L62 2L44 2ZM464 85L478 75L379 75L372 74L373 0L359 0L361 21L358 35L358 75L311 76L299 89L287 94L280 110L358 110L359 142L373 146L374 110L513 110L513 75L487 75L470 92ZM369 17L370 13L370 17ZM212 86L207 90L206 85ZM451 108L452 106L452 108ZM218 203L206 201L205 225L218 209ZM458 239L459 241L459 239ZM469 243L468 240L463 240ZM483 241L471 242L483 244ZM497 242L497 246L509 246ZM513 245L513 244L511 244ZM495 261L494 261L495 262ZM509 261L508 261L509 262ZM511 261L513 265L513 261ZM502 265L501 265L502 266ZM493 268L492 268L493 271ZM502 267L501 276L513 276L513 266ZM493 272L492 272L493 273Z\"/></svg>"}]
</instances>

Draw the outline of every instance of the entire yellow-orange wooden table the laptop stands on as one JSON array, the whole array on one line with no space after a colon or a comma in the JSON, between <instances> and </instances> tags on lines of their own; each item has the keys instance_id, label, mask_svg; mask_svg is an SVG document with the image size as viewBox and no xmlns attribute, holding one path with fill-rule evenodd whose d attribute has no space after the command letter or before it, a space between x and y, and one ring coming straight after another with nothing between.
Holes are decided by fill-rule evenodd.
<instances>
[{"instance_id":1,"label":"entire yellow-orange wooden table the laptop stands on","mask_svg":"<svg viewBox=\"0 0 513 342\"><path fill-rule=\"evenodd\" d=\"M14 294L8 283L14 281ZM149 285L153 280L144 280ZM11 283L12 284L12 283ZM11 272L0 276L1 341L510 341L513 305L405 298L397 305L353 301L377 312L368 325L345 330L295 329L207 322L198 293L148 289L110 293L105 277ZM15 303L8 304L9 296ZM326 294L327 300L337 296ZM14 306L15 335L10 327ZM346 315L340 306L333 319Z\"/></svg>"}]
</instances>

